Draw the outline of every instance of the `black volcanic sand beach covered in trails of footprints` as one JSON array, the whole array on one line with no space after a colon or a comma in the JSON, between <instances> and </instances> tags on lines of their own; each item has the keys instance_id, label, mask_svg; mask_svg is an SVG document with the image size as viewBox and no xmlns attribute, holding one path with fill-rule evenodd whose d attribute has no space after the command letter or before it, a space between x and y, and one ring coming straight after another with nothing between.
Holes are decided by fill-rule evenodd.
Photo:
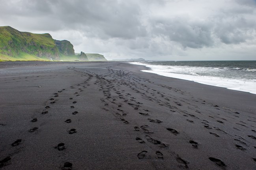
<instances>
[{"instance_id":1,"label":"black volcanic sand beach covered in trails of footprints","mask_svg":"<svg viewBox=\"0 0 256 170\"><path fill-rule=\"evenodd\" d=\"M145 69L1 63L0 168L256 169L255 94Z\"/></svg>"}]
</instances>

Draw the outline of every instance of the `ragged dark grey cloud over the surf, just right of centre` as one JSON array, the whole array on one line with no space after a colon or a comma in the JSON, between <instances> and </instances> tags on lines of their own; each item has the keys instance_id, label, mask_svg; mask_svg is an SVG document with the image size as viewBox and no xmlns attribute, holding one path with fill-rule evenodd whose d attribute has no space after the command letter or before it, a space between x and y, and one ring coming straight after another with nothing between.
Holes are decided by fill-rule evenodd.
<instances>
[{"instance_id":1,"label":"ragged dark grey cloud over the surf, just right of centre","mask_svg":"<svg viewBox=\"0 0 256 170\"><path fill-rule=\"evenodd\" d=\"M190 21L188 18L156 19L153 21L153 32L167 36L170 41L180 43L184 48L202 48L213 45L211 24Z\"/></svg>"}]
</instances>

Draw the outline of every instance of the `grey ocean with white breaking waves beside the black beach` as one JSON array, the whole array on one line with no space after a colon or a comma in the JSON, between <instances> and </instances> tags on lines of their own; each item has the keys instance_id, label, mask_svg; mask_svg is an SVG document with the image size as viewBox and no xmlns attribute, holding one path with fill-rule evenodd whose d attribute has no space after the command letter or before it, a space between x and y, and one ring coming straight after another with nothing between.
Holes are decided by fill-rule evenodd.
<instances>
[{"instance_id":1,"label":"grey ocean with white breaking waves beside the black beach","mask_svg":"<svg viewBox=\"0 0 256 170\"><path fill-rule=\"evenodd\" d=\"M256 94L256 61L140 61L161 76Z\"/></svg>"}]
</instances>

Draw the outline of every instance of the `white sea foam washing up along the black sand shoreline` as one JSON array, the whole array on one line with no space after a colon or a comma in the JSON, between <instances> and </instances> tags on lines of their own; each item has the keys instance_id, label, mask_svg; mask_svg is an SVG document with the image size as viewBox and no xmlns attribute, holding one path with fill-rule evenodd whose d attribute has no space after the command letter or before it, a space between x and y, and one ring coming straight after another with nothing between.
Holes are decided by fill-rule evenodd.
<instances>
[{"instance_id":1,"label":"white sea foam washing up along the black sand shoreline","mask_svg":"<svg viewBox=\"0 0 256 170\"><path fill-rule=\"evenodd\" d=\"M144 65L150 68L150 70L141 70L143 72L256 94L256 79L216 76L218 75L217 72L227 70L227 68L149 65L140 62L133 62L132 64Z\"/></svg>"}]
</instances>

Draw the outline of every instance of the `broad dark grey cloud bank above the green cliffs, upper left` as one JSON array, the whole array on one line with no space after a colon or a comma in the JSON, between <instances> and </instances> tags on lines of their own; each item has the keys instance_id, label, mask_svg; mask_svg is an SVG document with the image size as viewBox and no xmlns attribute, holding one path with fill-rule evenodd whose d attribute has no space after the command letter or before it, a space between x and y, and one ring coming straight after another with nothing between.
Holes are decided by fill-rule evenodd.
<instances>
[{"instance_id":1,"label":"broad dark grey cloud bank above the green cliffs, upper left","mask_svg":"<svg viewBox=\"0 0 256 170\"><path fill-rule=\"evenodd\" d=\"M116 0L43 0L4 2L11 9L11 17L28 18L24 24L34 29L74 29L84 31L87 36L103 39L119 37L132 39L145 36L146 30L140 22L140 8L133 3ZM2 11L9 15L10 12ZM6 16L7 17L7 16Z\"/></svg>"}]
</instances>

